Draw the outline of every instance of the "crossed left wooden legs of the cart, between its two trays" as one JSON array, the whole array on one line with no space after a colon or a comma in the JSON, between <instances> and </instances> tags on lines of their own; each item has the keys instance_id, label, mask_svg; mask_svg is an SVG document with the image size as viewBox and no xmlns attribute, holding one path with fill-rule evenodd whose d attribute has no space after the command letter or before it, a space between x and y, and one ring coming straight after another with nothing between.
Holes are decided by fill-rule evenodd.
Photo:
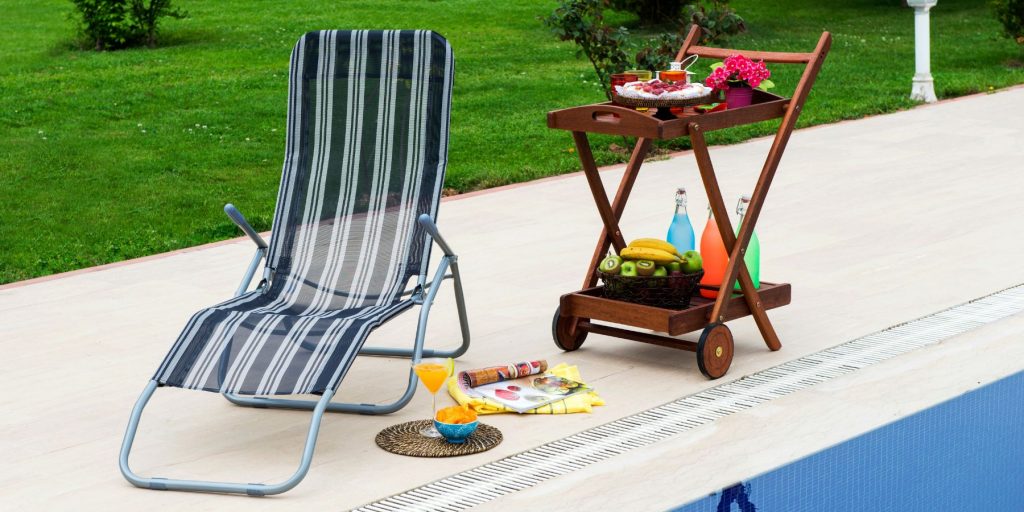
<instances>
[{"instance_id":1,"label":"crossed left wooden legs of the cart, between its two trays","mask_svg":"<svg viewBox=\"0 0 1024 512\"><path fill-rule=\"evenodd\" d=\"M618 182L618 189L615 191L615 199L609 204L608 195L604 190L600 173L597 171L597 164L594 162L594 155L590 150L590 141L587 133L582 131L572 132L572 139L575 141L577 153L580 154L580 162L583 164L583 172L587 176L590 184L590 191L594 195L594 202L597 204L597 211L601 214L604 228L601 230L601 238L594 249L594 256L590 260L590 267L587 269L587 276L584 278L583 288L592 288L597 285L597 275L594 270L601 264L608 248L615 246L615 251L622 251L626 247L623 233L618 229L618 219L623 217L626 209L626 202L630 199L633 184L636 182L637 174L640 172L640 165L643 164L644 157L650 150L651 141L648 138L638 138L633 147L633 155L629 164L626 165L626 172Z\"/></svg>"}]
</instances>

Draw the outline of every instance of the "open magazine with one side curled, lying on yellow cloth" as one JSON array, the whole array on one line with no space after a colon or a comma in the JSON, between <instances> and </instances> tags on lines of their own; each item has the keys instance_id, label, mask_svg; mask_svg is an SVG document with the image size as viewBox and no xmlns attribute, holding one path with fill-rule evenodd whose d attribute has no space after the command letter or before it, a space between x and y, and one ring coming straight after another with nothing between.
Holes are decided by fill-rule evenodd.
<instances>
[{"instance_id":1,"label":"open magazine with one side curled, lying on yellow cloth","mask_svg":"<svg viewBox=\"0 0 1024 512\"><path fill-rule=\"evenodd\" d=\"M591 387L582 382L540 373L545 370L545 361L493 367L463 372L458 383L467 395L488 398L516 413L525 413L577 393L591 391ZM490 373L488 378L480 378L483 372Z\"/></svg>"}]
</instances>

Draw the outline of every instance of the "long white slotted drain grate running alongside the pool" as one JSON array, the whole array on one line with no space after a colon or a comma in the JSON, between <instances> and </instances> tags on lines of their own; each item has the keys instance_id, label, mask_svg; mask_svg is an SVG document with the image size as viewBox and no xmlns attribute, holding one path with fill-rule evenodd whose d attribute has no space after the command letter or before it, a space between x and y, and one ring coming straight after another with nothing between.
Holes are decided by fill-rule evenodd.
<instances>
[{"instance_id":1,"label":"long white slotted drain grate running alongside the pool","mask_svg":"<svg viewBox=\"0 0 1024 512\"><path fill-rule=\"evenodd\" d=\"M1021 311L1024 311L1024 285L805 355L356 510L465 510Z\"/></svg>"}]
</instances>

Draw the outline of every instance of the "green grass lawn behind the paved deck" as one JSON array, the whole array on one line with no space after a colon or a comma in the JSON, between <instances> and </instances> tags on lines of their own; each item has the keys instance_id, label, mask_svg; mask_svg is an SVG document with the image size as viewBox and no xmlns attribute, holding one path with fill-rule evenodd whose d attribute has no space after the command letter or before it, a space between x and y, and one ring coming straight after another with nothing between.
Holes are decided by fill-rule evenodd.
<instances>
[{"instance_id":1,"label":"green grass lawn behind the paved deck","mask_svg":"<svg viewBox=\"0 0 1024 512\"><path fill-rule=\"evenodd\" d=\"M268 229L285 143L288 57L321 28L431 28L458 60L446 185L465 191L579 169L550 110L602 99L587 61L538 20L554 2L376 0L176 2L157 49L96 53L71 44L71 3L4 2L0 39L0 283L237 236L233 202ZM737 47L831 53L801 125L911 106L911 11L891 0L733 0ZM400 15L396 15L400 14ZM983 2L932 11L939 97L1024 82ZM628 22L628 20L627 20ZM798 70L775 67L786 92ZM716 133L728 143L774 125ZM596 137L601 164L622 139Z\"/></svg>"}]
</instances>

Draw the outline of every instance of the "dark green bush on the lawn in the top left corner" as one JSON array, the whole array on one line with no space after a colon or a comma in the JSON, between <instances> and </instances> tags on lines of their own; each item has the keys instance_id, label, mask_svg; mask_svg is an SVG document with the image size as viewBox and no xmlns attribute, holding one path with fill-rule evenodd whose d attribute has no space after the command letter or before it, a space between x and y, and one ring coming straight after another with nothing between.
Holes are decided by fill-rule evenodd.
<instances>
[{"instance_id":1,"label":"dark green bush on the lawn in the top left corner","mask_svg":"<svg viewBox=\"0 0 1024 512\"><path fill-rule=\"evenodd\" d=\"M113 50L145 43L157 44L160 19L187 14L171 6L172 0L71 0L75 4L79 34L95 50Z\"/></svg>"}]
</instances>

